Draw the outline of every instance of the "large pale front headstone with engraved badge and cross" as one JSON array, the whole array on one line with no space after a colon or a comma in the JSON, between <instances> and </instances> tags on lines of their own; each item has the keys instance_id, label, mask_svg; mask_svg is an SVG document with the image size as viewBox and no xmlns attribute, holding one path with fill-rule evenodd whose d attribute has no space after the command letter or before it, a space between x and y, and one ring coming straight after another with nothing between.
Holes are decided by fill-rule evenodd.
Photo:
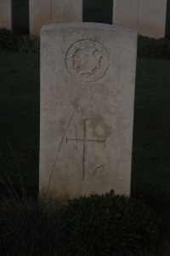
<instances>
[{"instance_id":1,"label":"large pale front headstone with engraved badge and cross","mask_svg":"<svg viewBox=\"0 0 170 256\"><path fill-rule=\"evenodd\" d=\"M118 26L42 27L42 194L130 194L136 45Z\"/></svg>"}]
</instances>

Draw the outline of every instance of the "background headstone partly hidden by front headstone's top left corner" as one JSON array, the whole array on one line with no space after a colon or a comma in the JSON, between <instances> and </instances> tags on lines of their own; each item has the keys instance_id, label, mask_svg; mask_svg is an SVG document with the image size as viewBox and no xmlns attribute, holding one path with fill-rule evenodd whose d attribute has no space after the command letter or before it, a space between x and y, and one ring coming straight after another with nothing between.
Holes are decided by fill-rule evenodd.
<instances>
[{"instance_id":1,"label":"background headstone partly hidden by front headstone's top left corner","mask_svg":"<svg viewBox=\"0 0 170 256\"><path fill-rule=\"evenodd\" d=\"M47 24L82 21L82 0L29 1L31 35L39 35Z\"/></svg>"}]
</instances>

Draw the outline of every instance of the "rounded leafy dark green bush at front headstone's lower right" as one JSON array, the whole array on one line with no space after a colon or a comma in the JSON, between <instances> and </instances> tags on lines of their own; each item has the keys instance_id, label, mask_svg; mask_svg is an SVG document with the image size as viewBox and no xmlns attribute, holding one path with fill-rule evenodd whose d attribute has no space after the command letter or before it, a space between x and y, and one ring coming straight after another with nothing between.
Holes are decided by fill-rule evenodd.
<instances>
[{"instance_id":1,"label":"rounded leafy dark green bush at front headstone's lower right","mask_svg":"<svg viewBox=\"0 0 170 256\"><path fill-rule=\"evenodd\" d=\"M70 201L66 212L71 255L139 256L155 250L156 216L143 201L111 191Z\"/></svg>"}]
</instances>

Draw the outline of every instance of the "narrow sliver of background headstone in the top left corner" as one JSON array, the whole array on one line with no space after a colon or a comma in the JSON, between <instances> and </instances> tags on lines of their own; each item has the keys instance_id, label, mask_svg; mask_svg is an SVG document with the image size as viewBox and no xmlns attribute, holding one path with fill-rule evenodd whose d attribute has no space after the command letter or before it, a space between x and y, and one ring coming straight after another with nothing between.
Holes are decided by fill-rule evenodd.
<instances>
[{"instance_id":1,"label":"narrow sliver of background headstone in the top left corner","mask_svg":"<svg viewBox=\"0 0 170 256\"><path fill-rule=\"evenodd\" d=\"M0 27L11 28L11 0L0 0Z\"/></svg>"}]
</instances>

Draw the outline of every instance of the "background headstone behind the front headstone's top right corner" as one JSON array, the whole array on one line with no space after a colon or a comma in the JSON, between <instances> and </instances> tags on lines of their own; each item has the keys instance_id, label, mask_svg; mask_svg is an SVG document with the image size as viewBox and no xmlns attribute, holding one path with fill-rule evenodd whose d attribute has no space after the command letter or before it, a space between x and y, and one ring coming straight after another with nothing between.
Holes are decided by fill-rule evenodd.
<instances>
[{"instance_id":1,"label":"background headstone behind the front headstone's top right corner","mask_svg":"<svg viewBox=\"0 0 170 256\"><path fill-rule=\"evenodd\" d=\"M113 24L150 38L165 36L167 0L114 0Z\"/></svg>"}]
</instances>

